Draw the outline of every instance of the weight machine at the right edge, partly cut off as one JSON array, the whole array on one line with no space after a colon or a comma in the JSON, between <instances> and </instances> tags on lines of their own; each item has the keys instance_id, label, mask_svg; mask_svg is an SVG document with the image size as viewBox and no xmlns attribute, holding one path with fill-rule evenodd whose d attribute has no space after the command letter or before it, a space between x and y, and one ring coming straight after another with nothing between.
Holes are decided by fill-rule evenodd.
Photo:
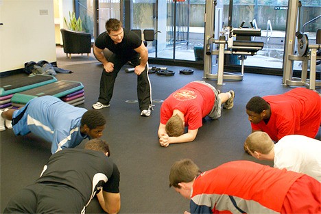
<instances>
[{"instance_id":1,"label":"weight machine at the right edge, partly cut off","mask_svg":"<svg viewBox=\"0 0 321 214\"><path fill-rule=\"evenodd\" d=\"M283 59L283 85L306 86L311 90L321 86L320 80L316 79L316 60L321 59L317 55L318 49L321 49L321 31L317 32L316 43L309 44L306 34L298 31L298 14L300 14L301 3L298 0L289 1L287 10L287 31L285 38L285 53ZM299 17L300 18L300 17ZM298 55L294 54L294 47L297 41ZM293 77L294 61L302 61L301 77ZM308 64L310 61L310 76L307 78Z\"/></svg>"}]
</instances>

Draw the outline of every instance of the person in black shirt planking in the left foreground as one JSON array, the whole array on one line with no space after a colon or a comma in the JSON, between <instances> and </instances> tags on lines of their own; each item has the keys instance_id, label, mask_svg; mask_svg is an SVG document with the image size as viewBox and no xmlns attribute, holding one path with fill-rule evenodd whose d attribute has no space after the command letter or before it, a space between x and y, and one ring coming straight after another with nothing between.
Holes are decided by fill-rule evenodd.
<instances>
[{"instance_id":1,"label":"person in black shirt planking in the left foreground","mask_svg":"<svg viewBox=\"0 0 321 214\"><path fill-rule=\"evenodd\" d=\"M19 191L3 213L85 213L96 193L106 213L118 213L119 170L109 155L102 139L91 139L85 149L56 152L40 178Z\"/></svg>"}]
</instances>

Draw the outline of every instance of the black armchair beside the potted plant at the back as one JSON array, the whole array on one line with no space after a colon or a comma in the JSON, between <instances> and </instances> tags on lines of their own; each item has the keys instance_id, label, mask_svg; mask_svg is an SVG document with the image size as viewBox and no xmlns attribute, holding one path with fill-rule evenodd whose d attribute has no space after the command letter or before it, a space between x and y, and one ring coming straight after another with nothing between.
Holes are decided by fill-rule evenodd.
<instances>
[{"instance_id":1,"label":"black armchair beside the potted plant at the back","mask_svg":"<svg viewBox=\"0 0 321 214\"><path fill-rule=\"evenodd\" d=\"M60 29L62 35L62 42L64 43L64 53L69 54L71 59L71 53L91 53L91 34L71 31L67 29Z\"/></svg>"}]
</instances>

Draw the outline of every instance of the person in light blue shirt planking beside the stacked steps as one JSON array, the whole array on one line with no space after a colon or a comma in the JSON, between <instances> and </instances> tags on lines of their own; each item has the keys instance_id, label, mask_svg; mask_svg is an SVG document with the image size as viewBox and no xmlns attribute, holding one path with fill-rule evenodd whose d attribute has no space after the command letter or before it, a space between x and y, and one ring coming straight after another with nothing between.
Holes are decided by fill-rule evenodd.
<instances>
[{"instance_id":1,"label":"person in light blue shirt planking beside the stacked steps","mask_svg":"<svg viewBox=\"0 0 321 214\"><path fill-rule=\"evenodd\" d=\"M78 146L83 139L102 137L106 120L97 110L64 103L54 96L30 100L19 110L0 111L0 126L12 120L15 135L34 133L51 142L51 153Z\"/></svg>"}]
</instances>

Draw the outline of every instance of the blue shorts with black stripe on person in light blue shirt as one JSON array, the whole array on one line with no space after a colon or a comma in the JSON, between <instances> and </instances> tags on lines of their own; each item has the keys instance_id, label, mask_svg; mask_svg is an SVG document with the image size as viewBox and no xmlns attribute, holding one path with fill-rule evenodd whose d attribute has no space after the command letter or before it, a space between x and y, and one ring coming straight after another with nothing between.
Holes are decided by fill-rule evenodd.
<instances>
[{"instance_id":1,"label":"blue shorts with black stripe on person in light blue shirt","mask_svg":"<svg viewBox=\"0 0 321 214\"><path fill-rule=\"evenodd\" d=\"M30 133L29 127L27 125L27 108L29 102L19 110L14 111L12 114L12 129L15 135L27 135Z\"/></svg>"}]
</instances>

